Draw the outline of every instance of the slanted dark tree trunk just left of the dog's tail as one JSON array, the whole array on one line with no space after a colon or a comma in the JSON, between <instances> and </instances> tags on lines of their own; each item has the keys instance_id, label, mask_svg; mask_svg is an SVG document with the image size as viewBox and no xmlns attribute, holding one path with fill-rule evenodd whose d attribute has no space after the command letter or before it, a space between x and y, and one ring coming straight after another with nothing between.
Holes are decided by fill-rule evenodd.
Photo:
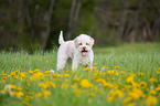
<instances>
[{"instance_id":1,"label":"slanted dark tree trunk just left of the dog's tail","mask_svg":"<svg viewBox=\"0 0 160 106\"><path fill-rule=\"evenodd\" d=\"M49 9L49 19L47 19L46 35L44 38L44 42L43 42L42 47L41 47L42 51L44 51L46 49L46 44L47 44L49 36L50 36L50 30L51 30L50 22L51 22L51 18L52 18L54 1L55 0L51 0L51 4L50 4L50 9Z\"/></svg>"}]
</instances>

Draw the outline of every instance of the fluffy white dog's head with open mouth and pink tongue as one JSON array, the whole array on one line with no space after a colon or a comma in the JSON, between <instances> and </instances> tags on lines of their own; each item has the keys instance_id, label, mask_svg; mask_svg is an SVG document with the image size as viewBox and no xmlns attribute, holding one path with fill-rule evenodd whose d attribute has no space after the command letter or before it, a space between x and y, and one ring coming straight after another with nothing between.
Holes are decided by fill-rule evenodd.
<instances>
[{"instance_id":1,"label":"fluffy white dog's head with open mouth and pink tongue","mask_svg":"<svg viewBox=\"0 0 160 106\"><path fill-rule=\"evenodd\" d=\"M74 42L78 52L81 52L82 55L85 56L92 50L95 41L93 38L86 34L81 34L79 36L75 38Z\"/></svg>"}]
</instances>

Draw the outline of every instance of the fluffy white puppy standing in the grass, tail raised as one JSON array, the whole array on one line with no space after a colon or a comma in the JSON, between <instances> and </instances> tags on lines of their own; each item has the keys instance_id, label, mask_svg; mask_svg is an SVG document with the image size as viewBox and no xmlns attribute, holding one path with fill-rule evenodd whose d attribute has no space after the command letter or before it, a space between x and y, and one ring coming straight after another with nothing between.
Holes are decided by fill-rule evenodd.
<instances>
[{"instance_id":1,"label":"fluffy white puppy standing in the grass, tail raised","mask_svg":"<svg viewBox=\"0 0 160 106\"><path fill-rule=\"evenodd\" d=\"M87 65L92 68L94 61L94 52L92 46L94 45L94 39L81 34L73 41L64 41L63 32L61 31L58 43L61 44L57 51L57 64L56 70L63 70L68 59L72 59L72 70L75 71L79 63Z\"/></svg>"}]
</instances>

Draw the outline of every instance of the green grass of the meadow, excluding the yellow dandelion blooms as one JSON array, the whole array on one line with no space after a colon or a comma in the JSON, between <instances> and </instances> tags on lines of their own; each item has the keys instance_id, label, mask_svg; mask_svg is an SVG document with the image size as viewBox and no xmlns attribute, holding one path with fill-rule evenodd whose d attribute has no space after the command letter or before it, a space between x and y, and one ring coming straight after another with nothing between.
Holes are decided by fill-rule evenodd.
<instances>
[{"instance_id":1,"label":"green grass of the meadow, excluding the yellow dandelion blooms","mask_svg":"<svg viewBox=\"0 0 160 106\"><path fill-rule=\"evenodd\" d=\"M4 94L0 92L0 106L23 106L25 105L23 104L24 100L29 103L29 106L122 106L124 99L129 97L128 92L132 92L134 88L139 88L139 85L134 87L134 84L126 82L127 77L131 74L135 75L134 82L136 84L146 82L147 87L145 89L139 88L146 97L132 99L127 104L134 103L135 105L146 106L146 99L152 95L158 100L156 105L160 106L160 91L156 91L156 88L160 86L160 73L158 73L158 67L160 67L160 43L132 43L109 47L95 46L94 54L94 66L96 66L95 72L88 73L83 70L83 66L79 66L76 72L66 72L66 68L63 72L58 72L61 75L68 73L68 77L55 76L52 74L45 76L44 74L43 80L32 81L30 76L33 74L29 73L29 71L34 71L35 68L40 68L40 72L43 73L50 70L55 71L56 51L50 51L44 54L39 51L33 54L28 54L25 51L17 53L0 52L0 91L2 91L6 85L13 84L21 87L24 94L22 97L18 98L11 96L9 91ZM49 61L49 63L46 61ZM108 66L109 68L102 70L103 66ZM116 70L114 68L115 66L119 66L120 68ZM23 71L20 71L19 68L22 68ZM99 70L99 73L97 70ZM18 80L14 78L14 75L8 77L8 75L14 71L17 71L15 75L18 76ZM108 73L108 71L114 71L114 74ZM126 74L120 73L121 71ZM21 82L20 73L22 72L26 72L28 74ZM100 72L105 72L106 74L103 75ZM118 75L115 74L116 72ZM3 75L4 73L7 75ZM98 74L95 75L95 73ZM140 76L139 73L143 73L143 75ZM79 82L74 82L74 77L78 77ZM102 84L97 83L96 80L98 80L98 77L111 84L113 87L104 87ZM87 78L94 87L84 88L81 86L81 81L84 78ZM157 82L151 83L150 78L156 78ZM40 83L45 83L47 81L53 82L56 87L53 88L50 86L49 88L42 88L39 86ZM30 85L28 85L28 83L30 83ZM67 85L67 88L61 88L62 84ZM73 88L72 85L74 85L75 88ZM125 91L124 88L126 85L131 86L131 88L127 87ZM118 86L118 88L116 88L116 86ZM50 91L51 95L35 97L35 94L42 93L44 89ZM122 97L117 98L116 94L110 93L110 91L116 93L117 89L122 91ZM156 91L157 94L149 94L150 89ZM17 89L11 91L17 92ZM77 91L82 92L79 93L79 97L76 95L78 94ZM29 95L30 92L33 92L34 94ZM94 96L88 96L89 93L94 93ZM33 98L28 98L26 96L32 96ZM109 102L107 99L109 97L114 97L114 99Z\"/></svg>"}]
</instances>

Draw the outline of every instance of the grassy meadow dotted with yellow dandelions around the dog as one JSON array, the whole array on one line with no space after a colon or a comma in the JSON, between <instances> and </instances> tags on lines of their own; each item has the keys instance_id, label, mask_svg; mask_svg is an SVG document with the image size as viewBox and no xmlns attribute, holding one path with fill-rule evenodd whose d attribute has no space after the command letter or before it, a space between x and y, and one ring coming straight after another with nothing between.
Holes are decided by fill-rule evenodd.
<instances>
[{"instance_id":1,"label":"grassy meadow dotted with yellow dandelions around the dog","mask_svg":"<svg viewBox=\"0 0 160 106\"><path fill-rule=\"evenodd\" d=\"M160 106L160 43L94 54L93 71L56 72L56 51L0 52L0 106Z\"/></svg>"}]
</instances>

